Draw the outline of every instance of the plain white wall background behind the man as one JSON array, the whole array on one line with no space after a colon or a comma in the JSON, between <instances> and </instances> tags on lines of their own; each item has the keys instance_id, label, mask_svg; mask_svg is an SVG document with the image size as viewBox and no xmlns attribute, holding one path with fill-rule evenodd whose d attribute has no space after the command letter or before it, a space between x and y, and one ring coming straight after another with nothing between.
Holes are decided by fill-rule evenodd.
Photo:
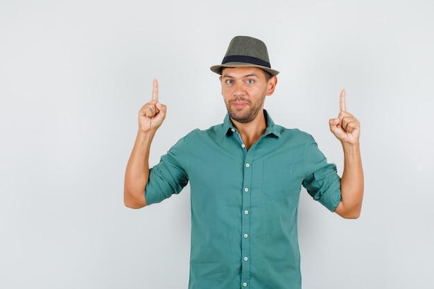
<instances>
[{"instance_id":1,"label":"plain white wall background behind the man","mask_svg":"<svg viewBox=\"0 0 434 289\"><path fill-rule=\"evenodd\" d=\"M362 124L365 200L343 220L302 191L304 289L432 288L433 1L0 1L0 288L186 288L189 189L123 207L137 112L168 106L151 164L221 123L235 35L281 71L266 109L315 137L340 89Z\"/></svg>"}]
</instances>

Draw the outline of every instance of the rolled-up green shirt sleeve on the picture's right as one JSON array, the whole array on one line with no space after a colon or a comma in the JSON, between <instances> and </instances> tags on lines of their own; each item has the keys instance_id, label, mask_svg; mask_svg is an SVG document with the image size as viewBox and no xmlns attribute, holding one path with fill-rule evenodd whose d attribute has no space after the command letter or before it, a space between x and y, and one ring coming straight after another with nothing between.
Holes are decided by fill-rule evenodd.
<instances>
[{"instance_id":1,"label":"rolled-up green shirt sleeve on the picture's right","mask_svg":"<svg viewBox=\"0 0 434 289\"><path fill-rule=\"evenodd\" d=\"M314 200L320 202L330 211L335 211L342 200L340 195L340 177L335 164L327 163L326 157L312 142L306 147L306 175L303 186Z\"/></svg>"}]
</instances>

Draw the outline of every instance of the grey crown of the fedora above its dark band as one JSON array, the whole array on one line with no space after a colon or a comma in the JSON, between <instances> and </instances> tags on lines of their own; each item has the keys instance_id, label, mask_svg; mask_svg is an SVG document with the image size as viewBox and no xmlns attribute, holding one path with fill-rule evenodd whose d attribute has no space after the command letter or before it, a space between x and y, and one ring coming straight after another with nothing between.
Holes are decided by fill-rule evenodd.
<instances>
[{"instance_id":1,"label":"grey crown of the fedora above its dark band","mask_svg":"<svg viewBox=\"0 0 434 289\"><path fill-rule=\"evenodd\" d=\"M243 55L270 62L267 46L261 40L249 36L236 36L229 43L225 58L232 55Z\"/></svg>"}]
</instances>

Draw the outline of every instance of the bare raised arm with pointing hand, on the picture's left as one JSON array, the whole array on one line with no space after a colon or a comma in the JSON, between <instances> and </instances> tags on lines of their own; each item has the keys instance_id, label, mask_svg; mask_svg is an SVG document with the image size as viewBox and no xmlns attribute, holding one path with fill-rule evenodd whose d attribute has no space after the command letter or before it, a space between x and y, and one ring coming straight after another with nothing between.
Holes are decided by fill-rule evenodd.
<instances>
[{"instance_id":1,"label":"bare raised arm with pointing hand, on the picture's left","mask_svg":"<svg viewBox=\"0 0 434 289\"><path fill-rule=\"evenodd\" d=\"M149 177L150 143L166 117L166 105L158 101L158 82L154 80L153 96L139 112L139 131L125 170L123 203L139 209L146 206L145 188Z\"/></svg>"}]
</instances>

